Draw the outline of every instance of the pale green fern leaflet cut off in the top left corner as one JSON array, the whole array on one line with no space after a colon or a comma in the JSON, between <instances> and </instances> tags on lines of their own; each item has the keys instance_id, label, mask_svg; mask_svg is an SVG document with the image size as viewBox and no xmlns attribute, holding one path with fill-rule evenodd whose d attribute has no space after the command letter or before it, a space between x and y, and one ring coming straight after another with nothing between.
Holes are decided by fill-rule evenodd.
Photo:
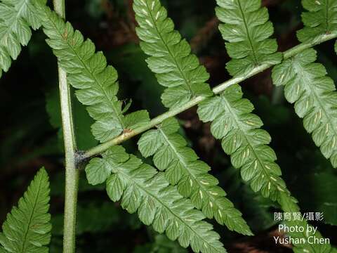
<instances>
[{"instance_id":1,"label":"pale green fern leaflet cut off in the top left corner","mask_svg":"<svg viewBox=\"0 0 337 253\"><path fill-rule=\"evenodd\" d=\"M46 4L46 0L37 0ZM41 25L32 0L0 1L0 77L18 58L21 46L27 46L32 31Z\"/></svg>"}]
</instances>

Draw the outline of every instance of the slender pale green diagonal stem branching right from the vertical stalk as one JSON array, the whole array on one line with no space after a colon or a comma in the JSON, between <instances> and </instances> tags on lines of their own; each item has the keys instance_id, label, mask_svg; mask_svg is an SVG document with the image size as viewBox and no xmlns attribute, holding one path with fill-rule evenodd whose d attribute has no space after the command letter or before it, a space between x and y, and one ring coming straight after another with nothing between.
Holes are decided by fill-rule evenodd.
<instances>
[{"instance_id":1,"label":"slender pale green diagonal stem branching right from the vertical stalk","mask_svg":"<svg viewBox=\"0 0 337 253\"><path fill-rule=\"evenodd\" d=\"M285 51L283 53L283 58L288 59L291 58L292 56L296 56L296 54L304 51L305 49L311 48L312 46L321 44L325 41L329 41L330 39L335 39L337 37L337 33L331 33L331 34L323 34L312 41L308 41L302 44L299 44L298 46L294 46L293 48L290 48L289 50ZM251 72L245 73L242 75L239 75L237 77L233 77L232 79L227 80L226 82L223 82L222 84L219 84L218 86L213 88L213 93L218 94L225 89L227 89L229 86L232 86L233 84L239 84L240 82L249 79L249 77L253 77L255 74L258 74L259 72L262 72L264 70L267 70L269 67L272 67L273 64L263 64L259 65ZM189 108L192 108L192 106L197 105L201 101L205 100L207 97L206 96L197 96L192 98L189 102L185 103L185 105L180 106L179 108L174 108L169 110L168 112L165 112L162 115L159 115L158 117L155 117L152 119L148 124L144 126L140 126L136 129L133 129L132 131L129 131L127 133L121 134L120 136L117 136L116 138L113 138L110 141L107 141L105 143L102 143L100 145L95 146L94 148L91 148L90 150L87 150L84 152L83 155L81 155L81 158L83 159L88 159L90 157L93 157L95 155L99 155L100 153L103 153L105 150L110 148L113 145L118 145L119 143L122 143L133 136L136 136L138 134L143 133L144 131L147 131L149 129L152 129L152 127L156 126L157 124L160 124L163 122L165 119L168 119L169 117L173 117L178 115L178 113L183 112Z\"/></svg>"}]
</instances>

